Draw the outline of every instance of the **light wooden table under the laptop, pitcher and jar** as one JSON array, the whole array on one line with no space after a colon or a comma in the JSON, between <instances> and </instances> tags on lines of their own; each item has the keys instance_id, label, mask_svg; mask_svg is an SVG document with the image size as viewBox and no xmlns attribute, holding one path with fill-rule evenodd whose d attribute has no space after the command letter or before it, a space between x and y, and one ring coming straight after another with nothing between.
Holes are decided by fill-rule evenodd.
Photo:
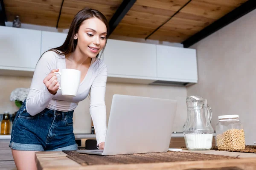
<instances>
[{"instance_id":1,"label":"light wooden table under the laptop, pitcher and jar","mask_svg":"<svg viewBox=\"0 0 256 170\"><path fill-rule=\"evenodd\" d=\"M216 150L190 151L184 148L182 148L182 151L180 152L235 156L241 159L81 166L75 161L67 158L67 154L63 152L35 152L35 161L37 162L38 170L185 170L192 168L220 167L239 167L242 170L256 170L255 153L225 152Z\"/></svg>"}]
</instances>

